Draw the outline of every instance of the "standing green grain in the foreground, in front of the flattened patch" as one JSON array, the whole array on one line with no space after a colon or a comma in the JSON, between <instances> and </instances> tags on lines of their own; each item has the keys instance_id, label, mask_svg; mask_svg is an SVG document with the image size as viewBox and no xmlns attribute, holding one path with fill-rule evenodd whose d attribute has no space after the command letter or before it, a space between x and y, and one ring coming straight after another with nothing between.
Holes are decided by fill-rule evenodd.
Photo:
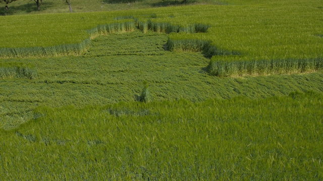
<instances>
[{"instance_id":1,"label":"standing green grain in the foreground, in front of the flattened patch","mask_svg":"<svg viewBox=\"0 0 323 181\"><path fill-rule=\"evenodd\" d=\"M323 95L40 107L0 132L3 179L321 180Z\"/></svg>"}]
</instances>

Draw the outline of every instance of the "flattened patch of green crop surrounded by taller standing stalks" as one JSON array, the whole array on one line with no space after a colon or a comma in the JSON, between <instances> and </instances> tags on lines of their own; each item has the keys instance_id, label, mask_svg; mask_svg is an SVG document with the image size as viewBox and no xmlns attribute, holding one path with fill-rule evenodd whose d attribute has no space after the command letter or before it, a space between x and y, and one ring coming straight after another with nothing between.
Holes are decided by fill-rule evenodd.
<instances>
[{"instance_id":1,"label":"flattened patch of green crop surrounded by taller standing stalks","mask_svg":"<svg viewBox=\"0 0 323 181\"><path fill-rule=\"evenodd\" d=\"M205 71L200 53L165 51L166 34L139 31L100 36L82 56L4 59L28 62L38 77L0 81L0 125L12 129L33 117L37 106L102 105L134 101L142 82L152 100L201 101L236 96L265 98L311 89L322 92L321 72L244 78L217 78ZM113 44L111 42L114 42Z\"/></svg>"}]
</instances>

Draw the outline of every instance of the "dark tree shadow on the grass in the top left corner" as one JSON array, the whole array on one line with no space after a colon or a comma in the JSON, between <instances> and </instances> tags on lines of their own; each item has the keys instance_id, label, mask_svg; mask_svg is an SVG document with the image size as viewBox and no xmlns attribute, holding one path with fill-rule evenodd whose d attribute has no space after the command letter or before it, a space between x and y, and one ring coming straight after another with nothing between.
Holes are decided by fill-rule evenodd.
<instances>
[{"instance_id":1,"label":"dark tree shadow on the grass in the top left corner","mask_svg":"<svg viewBox=\"0 0 323 181\"><path fill-rule=\"evenodd\" d=\"M47 3L44 2L40 6L40 11L46 10L52 6L52 3ZM20 5L20 6L10 6L8 5L9 9L8 11L6 10L6 7L1 7L0 8L0 15L5 16L5 15L13 15L15 13L31 13L31 12L37 12L37 6L36 3L28 3L25 5Z\"/></svg>"}]
</instances>

